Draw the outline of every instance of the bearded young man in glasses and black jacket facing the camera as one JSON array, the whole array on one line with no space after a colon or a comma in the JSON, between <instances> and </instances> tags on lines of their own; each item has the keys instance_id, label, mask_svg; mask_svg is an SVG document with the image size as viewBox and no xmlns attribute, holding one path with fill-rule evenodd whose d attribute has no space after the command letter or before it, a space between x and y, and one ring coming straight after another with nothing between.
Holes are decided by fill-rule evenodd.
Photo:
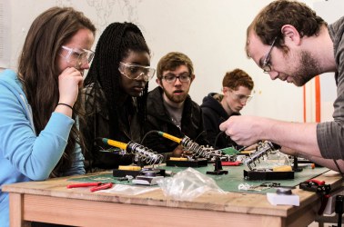
<instances>
[{"instance_id":1,"label":"bearded young man in glasses and black jacket facing the camera","mask_svg":"<svg viewBox=\"0 0 344 227\"><path fill-rule=\"evenodd\" d=\"M146 132L162 131L207 144L203 118L198 104L191 100L188 91L195 79L194 66L186 54L171 52L157 64L157 88L148 93ZM144 144L165 157L179 157L183 151L177 143L151 133Z\"/></svg>"}]
</instances>

